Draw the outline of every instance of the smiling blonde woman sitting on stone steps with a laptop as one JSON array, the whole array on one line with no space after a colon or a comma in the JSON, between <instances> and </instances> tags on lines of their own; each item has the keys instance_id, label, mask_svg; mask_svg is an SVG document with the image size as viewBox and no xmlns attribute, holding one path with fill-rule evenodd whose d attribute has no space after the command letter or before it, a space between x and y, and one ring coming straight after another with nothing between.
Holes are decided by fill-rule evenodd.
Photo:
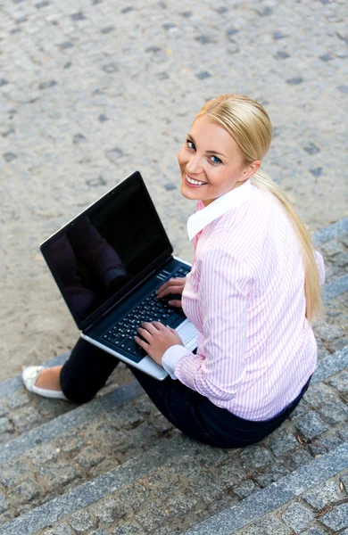
<instances>
[{"instance_id":1,"label":"smiling blonde woman sitting on stone steps with a laptop","mask_svg":"<svg viewBox=\"0 0 348 535\"><path fill-rule=\"evenodd\" d=\"M187 223L195 260L186 280L157 293L182 294L171 304L195 324L197 351L158 322L136 336L170 374L158 382L130 368L139 383L172 424L211 446L246 446L273 432L316 366L311 322L325 270L285 194L259 170L271 136L266 111L243 95L221 95L198 113L178 152L181 193L197 202ZM79 340L64 366L30 366L23 381L85 402L114 367L115 358Z\"/></svg>"}]
</instances>

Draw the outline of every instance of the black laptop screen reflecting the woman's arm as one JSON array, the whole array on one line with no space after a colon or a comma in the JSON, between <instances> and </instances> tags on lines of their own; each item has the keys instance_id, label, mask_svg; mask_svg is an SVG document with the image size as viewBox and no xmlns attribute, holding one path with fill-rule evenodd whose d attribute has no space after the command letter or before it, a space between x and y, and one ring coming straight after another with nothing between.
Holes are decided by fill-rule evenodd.
<instances>
[{"instance_id":1,"label":"black laptop screen reflecting the woman's arm","mask_svg":"<svg viewBox=\"0 0 348 535\"><path fill-rule=\"evenodd\" d=\"M80 328L170 256L172 248L139 173L123 180L41 246Z\"/></svg>"}]
</instances>

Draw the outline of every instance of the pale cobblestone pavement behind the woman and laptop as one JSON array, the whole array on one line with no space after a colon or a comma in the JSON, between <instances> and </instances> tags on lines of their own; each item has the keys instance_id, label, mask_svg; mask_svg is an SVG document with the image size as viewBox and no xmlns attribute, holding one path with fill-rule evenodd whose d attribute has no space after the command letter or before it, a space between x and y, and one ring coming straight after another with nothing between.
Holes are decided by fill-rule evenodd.
<instances>
[{"instance_id":1,"label":"pale cobblestone pavement behind the woman and laptop","mask_svg":"<svg viewBox=\"0 0 348 535\"><path fill-rule=\"evenodd\" d=\"M192 258L176 153L211 96L266 105L265 169L312 231L344 217L344 4L1 3L1 379L70 349L38 243L121 177L143 172L175 252Z\"/></svg>"}]
</instances>

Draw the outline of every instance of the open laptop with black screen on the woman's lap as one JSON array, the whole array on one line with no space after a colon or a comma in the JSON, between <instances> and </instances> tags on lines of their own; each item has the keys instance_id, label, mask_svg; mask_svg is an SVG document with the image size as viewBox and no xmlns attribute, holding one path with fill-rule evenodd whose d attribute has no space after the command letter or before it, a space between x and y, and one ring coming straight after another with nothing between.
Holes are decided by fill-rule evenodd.
<instances>
[{"instance_id":1,"label":"open laptop with black screen on the woman's lap","mask_svg":"<svg viewBox=\"0 0 348 535\"><path fill-rule=\"evenodd\" d=\"M197 331L170 295L155 291L191 265L172 255L162 222L136 171L40 245L81 337L145 374L168 375L134 341L143 321L176 329L189 350ZM177 297L178 298L178 297Z\"/></svg>"}]
</instances>

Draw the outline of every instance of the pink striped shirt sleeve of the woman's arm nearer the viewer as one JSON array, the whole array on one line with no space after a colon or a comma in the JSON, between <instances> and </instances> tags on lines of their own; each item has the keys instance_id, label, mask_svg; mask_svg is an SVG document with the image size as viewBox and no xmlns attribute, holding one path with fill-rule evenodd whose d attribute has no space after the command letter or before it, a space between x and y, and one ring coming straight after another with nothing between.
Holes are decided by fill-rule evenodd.
<instances>
[{"instance_id":1,"label":"pink striped shirt sleeve of the woman's arm nearer the viewer","mask_svg":"<svg viewBox=\"0 0 348 535\"><path fill-rule=\"evenodd\" d=\"M206 251L199 286L203 355L178 358L175 376L212 402L236 396L245 373L248 291L252 276L225 252Z\"/></svg>"}]
</instances>

